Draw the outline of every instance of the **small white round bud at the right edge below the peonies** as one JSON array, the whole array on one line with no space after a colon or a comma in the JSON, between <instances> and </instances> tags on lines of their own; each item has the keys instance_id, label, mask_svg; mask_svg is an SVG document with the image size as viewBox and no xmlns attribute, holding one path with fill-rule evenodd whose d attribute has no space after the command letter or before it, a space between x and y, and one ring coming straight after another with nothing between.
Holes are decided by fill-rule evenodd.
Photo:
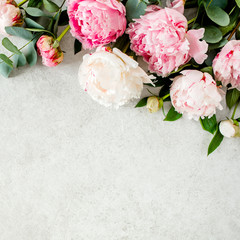
<instances>
[{"instance_id":1,"label":"small white round bud at the right edge below the peonies","mask_svg":"<svg viewBox=\"0 0 240 240\"><path fill-rule=\"evenodd\" d=\"M219 125L219 130L224 137L240 137L240 128L232 120L222 121Z\"/></svg>"}]
</instances>

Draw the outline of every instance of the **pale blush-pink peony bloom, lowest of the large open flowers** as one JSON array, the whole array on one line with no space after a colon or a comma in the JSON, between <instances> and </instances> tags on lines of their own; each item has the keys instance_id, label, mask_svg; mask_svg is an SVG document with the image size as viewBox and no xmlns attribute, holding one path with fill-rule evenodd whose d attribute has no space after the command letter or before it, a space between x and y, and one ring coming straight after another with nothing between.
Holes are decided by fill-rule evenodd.
<instances>
[{"instance_id":1,"label":"pale blush-pink peony bloom, lowest of the large open flowers","mask_svg":"<svg viewBox=\"0 0 240 240\"><path fill-rule=\"evenodd\" d=\"M208 73L185 70L173 79L170 88L172 105L189 119L211 117L216 108L222 110L222 96L216 82Z\"/></svg>"}]
</instances>

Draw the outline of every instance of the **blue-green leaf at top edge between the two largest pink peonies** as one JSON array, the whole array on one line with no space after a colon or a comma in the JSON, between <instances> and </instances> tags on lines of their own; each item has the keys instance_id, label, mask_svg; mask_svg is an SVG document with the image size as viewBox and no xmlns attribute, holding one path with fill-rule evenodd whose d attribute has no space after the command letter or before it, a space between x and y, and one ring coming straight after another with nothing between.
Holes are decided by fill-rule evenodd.
<instances>
[{"instance_id":1,"label":"blue-green leaf at top edge between the two largest pink peonies","mask_svg":"<svg viewBox=\"0 0 240 240\"><path fill-rule=\"evenodd\" d=\"M126 3L127 19L133 21L133 19L140 18L145 14L147 4L141 0L128 0Z\"/></svg>"}]
</instances>

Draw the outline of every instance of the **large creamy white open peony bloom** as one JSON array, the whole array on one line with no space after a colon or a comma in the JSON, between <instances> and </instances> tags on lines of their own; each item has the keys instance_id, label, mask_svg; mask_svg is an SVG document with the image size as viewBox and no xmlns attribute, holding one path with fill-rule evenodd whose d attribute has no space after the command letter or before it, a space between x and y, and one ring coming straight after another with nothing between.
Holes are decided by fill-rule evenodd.
<instances>
[{"instance_id":1,"label":"large creamy white open peony bloom","mask_svg":"<svg viewBox=\"0 0 240 240\"><path fill-rule=\"evenodd\" d=\"M143 83L152 83L154 79L117 48L98 48L93 54L84 55L78 77L82 88L95 101L116 108L140 98Z\"/></svg>"}]
</instances>

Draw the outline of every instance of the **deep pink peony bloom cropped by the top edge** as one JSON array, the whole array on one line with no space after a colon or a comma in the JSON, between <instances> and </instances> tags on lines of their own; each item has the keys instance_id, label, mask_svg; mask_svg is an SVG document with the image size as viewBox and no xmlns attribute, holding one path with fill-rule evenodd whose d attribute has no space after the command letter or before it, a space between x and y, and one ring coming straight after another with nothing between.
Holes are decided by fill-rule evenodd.
<instances>
[{"instance_id":1,"label":"deep pink peony bloom cropped by the top edge","mask_svg":"<svg viewBox=\"0 0 240 240\"><path fill-rule=\"evenodd\" d=\"M114 42L126 29L126 9L117 0L70 0L69 24L84 49Z\"/></svg>"}]
</instances>

